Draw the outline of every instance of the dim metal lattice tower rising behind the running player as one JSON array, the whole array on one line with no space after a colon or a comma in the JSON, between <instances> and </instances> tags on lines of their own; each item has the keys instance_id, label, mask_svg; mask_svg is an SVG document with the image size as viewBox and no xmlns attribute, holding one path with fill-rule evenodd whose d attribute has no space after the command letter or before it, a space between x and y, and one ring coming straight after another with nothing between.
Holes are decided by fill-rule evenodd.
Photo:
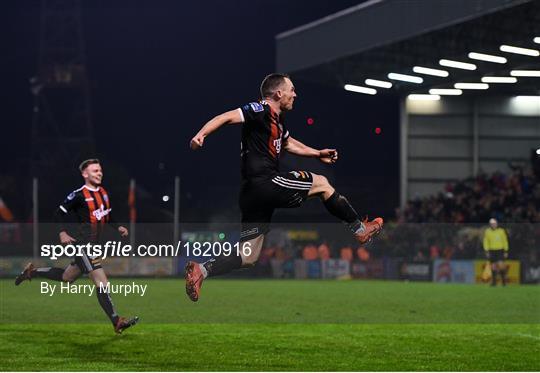
<instances>
[{"instance_id":1,"label":"dim metal lattice tower rising behind the running player","mask_svg":"<svg viewBox=\"0 0 540 373\"><path fill-rule=\"evenodd\" d=\"M42 0L34 95L32 173L94 155L80 0Z\"/></svg>"}]
</instances>

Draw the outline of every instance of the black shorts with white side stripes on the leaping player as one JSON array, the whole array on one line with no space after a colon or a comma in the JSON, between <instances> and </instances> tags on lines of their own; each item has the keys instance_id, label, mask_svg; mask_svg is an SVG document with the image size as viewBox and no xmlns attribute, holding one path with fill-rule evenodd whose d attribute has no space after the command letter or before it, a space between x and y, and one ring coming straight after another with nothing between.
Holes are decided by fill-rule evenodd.
<instances>
[{"instance_id":1,"label":"black shorts with white side stripes on the leaping player","mask_svg":"<svg viewBox=\"0 0 540 373\"><path fill-rule=\"evenodd\" d=\"M276 208L299 207L307 199L313 176L307 171L281 172L267 179L244 180L240 191L240 241L268 233Z\"/></svg>"}]
</instances>

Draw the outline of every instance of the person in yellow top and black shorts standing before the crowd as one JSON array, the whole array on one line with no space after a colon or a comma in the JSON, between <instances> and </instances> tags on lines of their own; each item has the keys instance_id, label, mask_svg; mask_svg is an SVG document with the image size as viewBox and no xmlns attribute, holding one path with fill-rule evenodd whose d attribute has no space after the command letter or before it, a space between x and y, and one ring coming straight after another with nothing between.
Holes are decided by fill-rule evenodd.
<instances>
[{"instance_id":1,"label":"person in yellow top and black shorts standing before the crowd","mask_svg":"<svg viewBox=\"0 0 540 373\"><path fill-rule=\"evenodd\" d=\"M484 232L484 251L491 263L491 286L497 285L497 273L500 273L502 284L506 286L506 265L508 258L508 237L506 231L498 226L497 219L489 219L489 228Z\"/></svg>"}]
</instances>

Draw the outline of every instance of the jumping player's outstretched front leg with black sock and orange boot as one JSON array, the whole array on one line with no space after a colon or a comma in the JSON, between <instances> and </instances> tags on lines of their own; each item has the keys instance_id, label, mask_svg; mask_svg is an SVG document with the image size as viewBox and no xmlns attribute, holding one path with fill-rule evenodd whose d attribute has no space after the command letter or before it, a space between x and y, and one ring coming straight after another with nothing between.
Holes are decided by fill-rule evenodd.
<instances>
[{"instance_id":1,"label":"jumping player's outstretched front leg with black sock and orange boot","mask_svg":"<svg viewBox=\"0 0 540 373\"><path fill-rule=\"evenodd\" d=\"M383 220L375 218L370 222L362 222L358 213L351 206L347 198L340 195L328 179L322 175L311 173L313 185L309 189L308 197L319 197L328 212L343 221L360 243L368 242L382 229Z\"/></svg>"}]
</instances>

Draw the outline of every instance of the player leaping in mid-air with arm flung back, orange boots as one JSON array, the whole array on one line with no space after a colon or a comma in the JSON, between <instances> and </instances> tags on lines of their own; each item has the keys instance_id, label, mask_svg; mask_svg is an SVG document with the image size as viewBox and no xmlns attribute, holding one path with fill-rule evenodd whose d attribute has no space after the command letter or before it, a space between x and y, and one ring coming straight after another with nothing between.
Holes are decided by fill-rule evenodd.
<instances>
[{"instance_id":1,"label":"player leaping in mid-air with arm flung back, orange boots","mask_svg":"<svg viewBox=\"0 0 540 373\"><path fill-rule=\"evenodd\" d=\"M293 108L296 98L294 85L288 75L268 75L260 90L261 101L216 116L191 140L191 148L197 150L203 146L208 135L222 126L242 124L241 249L239 253L213 258L203 264L188 262L186 293L192 301L199 299L202 282L208 276L222 275L255 264L276 208L298 207L309 197L319 197L327 210L345 222L362 244L369 242L383 226L382 218L361 221L347 199L330 185L326 177L308 171L280 172L279 156L282 149L292 154L318 158L327 164L337 161L338 152L336 149L317 150L304 145L285 128L283 116ZM249 250L242 250L242 247Z\"/></svg>"}]
</instances>

